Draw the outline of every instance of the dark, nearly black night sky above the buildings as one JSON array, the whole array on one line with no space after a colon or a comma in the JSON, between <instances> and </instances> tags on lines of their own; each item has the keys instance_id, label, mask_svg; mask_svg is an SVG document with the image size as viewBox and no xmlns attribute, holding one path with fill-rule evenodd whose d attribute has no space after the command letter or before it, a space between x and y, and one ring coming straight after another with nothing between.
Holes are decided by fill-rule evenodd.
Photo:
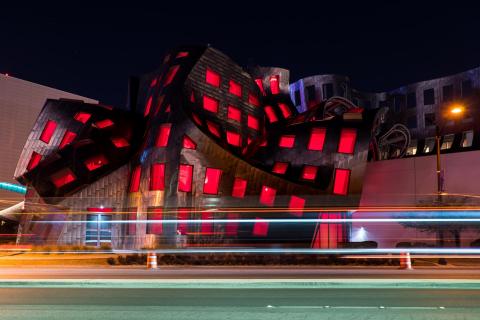
<instances>
[{"instance_id":1,"label":"dark, nearly black night sky above the buildings","mask_svg":"<svg viewBox=\"0 0 480 320\"><path fill-rule=\"evenodd\" d=\"M125 103L129 75L158 67L178 44L285 67L291 81L346 74L367 91L480 65L480 14L469 2L15 2L0 9L0 72L113 105Z\"/></svg>"}]
</instances>

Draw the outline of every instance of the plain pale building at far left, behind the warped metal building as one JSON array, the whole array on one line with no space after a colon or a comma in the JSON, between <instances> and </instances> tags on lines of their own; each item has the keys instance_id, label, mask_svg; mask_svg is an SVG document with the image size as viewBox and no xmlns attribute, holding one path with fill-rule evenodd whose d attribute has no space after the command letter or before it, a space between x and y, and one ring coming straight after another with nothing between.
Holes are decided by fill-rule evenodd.
<instances>
[{"instance_id":1,"label":"plain pale building at far left, behind the warped metal building","mask_svg":"<svg viewBox=\"0 0 480 320\"><path fill-rule=\"evenodd\" d=\"M98 101L40 84L0 74L0 182L17 183L13 178L18 158L47 99ZM0 189L0 210L23 196ZM8 199L8 201L6 201Z\"/></svg>"}]
</instances>

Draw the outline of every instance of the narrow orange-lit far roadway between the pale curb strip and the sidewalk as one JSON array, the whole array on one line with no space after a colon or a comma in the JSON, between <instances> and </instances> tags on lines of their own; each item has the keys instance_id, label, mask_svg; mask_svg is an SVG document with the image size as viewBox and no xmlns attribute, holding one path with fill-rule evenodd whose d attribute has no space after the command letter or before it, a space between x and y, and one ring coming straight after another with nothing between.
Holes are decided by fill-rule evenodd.
<instances>
[{"instance_id":1,"label":"narrow orange-lit far roadway between the pale curb strip and the sidewalk","mask_svg":"<svg viewBox=\"0 0 480 320\"><path fill-rule=\"evenodd\" d=\"M0 267L0 279L480 279L480 269L307 267ZM480 318L480 317L479 317Z\"/></svg>"}]
</instances>

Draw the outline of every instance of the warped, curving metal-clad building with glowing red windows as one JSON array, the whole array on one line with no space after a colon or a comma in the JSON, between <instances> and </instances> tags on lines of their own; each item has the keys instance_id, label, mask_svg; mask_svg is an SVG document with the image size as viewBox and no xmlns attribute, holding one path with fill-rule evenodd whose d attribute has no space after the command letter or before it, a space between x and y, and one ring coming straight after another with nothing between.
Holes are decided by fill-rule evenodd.
<instances>
[{"instance_id":1,"label":"warped, curving metal-clad building with glowing red windows","mask_svg":"<svg viewBox=\"0 0 480 320\"><path fill-rule=\"evenodd\" d=\"M467 75L473 97L478 72L362 93L343 76L290 84L288 70L247 71L211 47L172 50L159 69L131 79L127 110L46 102L15 171L28 186L26 211L43 214L24 214L20 225L41 243L114 248L168 247L179 238L195 246L351 245L356 230L376 232L348 223L370 214L358 208L433 203L430 173L417 178L428 170L435 176L431 126L414 129L408 119L441 115L445 106L431 104L431 89L435 96L455 82L453 99ZM468 118L476 119L475 101ZM480 174L453 161L473 161L476 123L441 125L446 167L456 174ZM459 188L475 194L475 183ZM398 223L390 227L406 234ZM397 241L375 239L383 247Z\"/></svg>"}]
</instances>

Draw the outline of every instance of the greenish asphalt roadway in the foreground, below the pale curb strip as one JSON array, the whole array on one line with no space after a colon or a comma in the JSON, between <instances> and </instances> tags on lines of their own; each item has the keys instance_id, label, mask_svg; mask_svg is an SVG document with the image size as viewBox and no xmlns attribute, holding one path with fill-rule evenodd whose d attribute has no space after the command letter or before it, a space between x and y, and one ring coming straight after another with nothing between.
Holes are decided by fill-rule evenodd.
<instances>
[{"instance_id":1,"label":"greenish asphalt roadway in the foreground, below the pale curb strip","mask_svg":"<svg viewBox=\"0 0 480 320\"><path fill-rule=\"evenodd\" d=\"M479 319L480 290L0 288L0 319Z\"/></svg>"}]
</instances>

